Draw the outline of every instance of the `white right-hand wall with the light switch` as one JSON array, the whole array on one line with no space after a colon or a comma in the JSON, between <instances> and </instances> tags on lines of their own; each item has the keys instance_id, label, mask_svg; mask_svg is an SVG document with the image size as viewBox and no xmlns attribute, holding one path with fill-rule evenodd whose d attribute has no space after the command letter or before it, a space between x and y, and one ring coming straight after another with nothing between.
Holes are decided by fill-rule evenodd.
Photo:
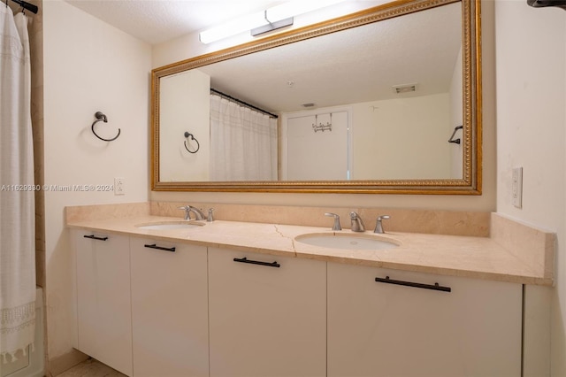
<instances>
[{"instance_id":1,"label":"white right-hand wall with the light switch","mask_svg":"<svg viewBox=\"0 0 566 377\"><path fill-rule=\"evenodd\" d=\"M553 376L566 375L566 12L495 2L497 212L558 235L551 292ZM511 169L523 166L523 208L511 204ZM539 363L545 367L544 359ZM548 368L548 365L546 365Z\"/></svg>"}]
</instances>

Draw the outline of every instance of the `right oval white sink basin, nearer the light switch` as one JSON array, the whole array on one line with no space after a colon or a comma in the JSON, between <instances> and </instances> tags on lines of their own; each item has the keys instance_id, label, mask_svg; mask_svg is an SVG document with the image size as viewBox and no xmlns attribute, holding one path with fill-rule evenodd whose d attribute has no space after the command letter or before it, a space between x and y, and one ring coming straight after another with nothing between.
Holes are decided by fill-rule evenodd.
<instances>
[{"instance_id":1,"label":"right oval white sink basin, nearer the light switch","mask_svg":"<svg viewBox=\"0 0 566 377\"><path fill-rule=\"evenodd\" d=\"M394 241L386 241L373 235L344 235L313 233L309 235L298 235L294 238L298 242L308 243L329 249L344 250L386 250L399 246Z\"/></svg>"}]
</instances>

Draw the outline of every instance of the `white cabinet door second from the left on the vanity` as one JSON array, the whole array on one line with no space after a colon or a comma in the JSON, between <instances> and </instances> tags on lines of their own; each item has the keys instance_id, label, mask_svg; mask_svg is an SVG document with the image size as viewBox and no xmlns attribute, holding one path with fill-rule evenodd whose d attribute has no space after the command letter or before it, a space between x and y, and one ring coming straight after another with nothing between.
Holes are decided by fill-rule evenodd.
<instances>
[{"instance_id":1,"label":"white cabinet door second from the left on the vanity","mask_svg":"<svg viewBox=\"0 0 566 377\"><path fill-rule=\"evenodd\" d=\"M208 376L206 248L130 242L134 376Z\"/></svg>"}]
</instances>

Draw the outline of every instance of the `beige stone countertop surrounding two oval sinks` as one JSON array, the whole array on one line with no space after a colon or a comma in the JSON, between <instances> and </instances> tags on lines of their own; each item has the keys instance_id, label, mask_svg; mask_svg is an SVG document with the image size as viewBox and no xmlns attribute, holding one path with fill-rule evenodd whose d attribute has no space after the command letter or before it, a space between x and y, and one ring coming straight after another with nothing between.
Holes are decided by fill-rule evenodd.
<instances>
[{"instance_id":1,"label":"beige stone countertop surrounding two oval sinks","mask_svg":"<svg viewBox=\"0 0 566 377\"><path fill-rule=\"evenodd\" d=\"M142 229L148 223L183 221L179 218L139 216L126 219L68 221L67 227L88 229L103 234L131 235L165 242L183 242L253 251L285 257L368 265L421 273L438 273L521 284L552 285L537 265L527 263L489 237L429 235L391 232L376 235L371 230L355 233L349 229L333 232L328 227L306 227L252 222L216 220L201 222L203 227L188 229ZM195 220L191 220L195 222ZM297 242L297 235L340 233L367 235L398 246L386 250L341 250Z\"/></svg>"}]
</instances>

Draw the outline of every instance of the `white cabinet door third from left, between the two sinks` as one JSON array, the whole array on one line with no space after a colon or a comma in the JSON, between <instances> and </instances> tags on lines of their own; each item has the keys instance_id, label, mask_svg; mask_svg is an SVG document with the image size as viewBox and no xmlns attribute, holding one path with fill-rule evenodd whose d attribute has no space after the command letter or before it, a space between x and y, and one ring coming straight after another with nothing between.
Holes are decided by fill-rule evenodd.
<instances>
[{"instance_id":1,"label":"white cabinet door third from left, between the two sinks","mask_svg":"<svg viewBox=\"0 0 566 377\"><path fill-rule=\"evenodd\" d=\"M325 375L325 276L324 262L209 249L210 376Z\"/></svg>"}]
</instances>

